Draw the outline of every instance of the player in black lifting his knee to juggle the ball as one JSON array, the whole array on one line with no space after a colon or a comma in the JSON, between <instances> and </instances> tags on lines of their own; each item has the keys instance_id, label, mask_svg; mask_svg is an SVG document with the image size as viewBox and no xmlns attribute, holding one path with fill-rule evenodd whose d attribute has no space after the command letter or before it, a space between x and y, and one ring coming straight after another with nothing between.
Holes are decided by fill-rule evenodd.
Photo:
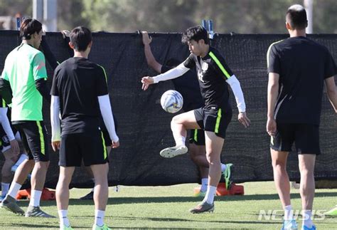
<instances>
[{"instance_id":1,"label":"player in black lifting his knee to juggle the ball","mask_svg":"<svg viewBox=\"0 0 337 230\"><path fill-rule=\"evenodd\" d=\"M223 149L225 132L232 118L228 85L235 94L239 109L239 121L242 125L248 127L250 120L245 112L245 100L240 83L228 68L223 56L215 48L210 47L205 28L202 26L188 28L183 33L182 40L188 44L191 51L191 55L186 61L166 73L155 77L146 76L141 79L141 83L143 83L142 89L146 90L153 83L177 78L191 68L197 67L200 92L205 100L205 105L173 117L171 130L176 146L161 150L160 155L171 157L185 154L188 151L185 145L186 130L205 130L209 184L203 202L190 210L192 213L200 213L214 210L214 194L221 177L220 154Z\"/></svg>"}]
</instances>

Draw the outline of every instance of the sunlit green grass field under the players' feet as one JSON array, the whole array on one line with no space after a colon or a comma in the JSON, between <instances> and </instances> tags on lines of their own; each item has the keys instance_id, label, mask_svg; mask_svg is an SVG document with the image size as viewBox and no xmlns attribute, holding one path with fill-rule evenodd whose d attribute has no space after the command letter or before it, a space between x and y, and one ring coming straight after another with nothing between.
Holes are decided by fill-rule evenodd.
<instances>
[{"instance_id":1,"label":"sunlit green grass field under the players' feet","mask_svg":"<svg viewBox=\"0 0 337 230\"><path fill-rule=\"evenodd\" d=\"M170 187L120 187L109 189L105 217L108 226L116 229L280 229L280 220L259 220L260 210L281 209L272 182L251 182L245 186L244 196L215 198L215 211L190 214L200 198L192 197L197 184ZM78 198L89 189L70 190L69 218L74 229L90 229L94 219L91 201ZM294 209L301 209L299 190L291 190ZM28 201L19 202L26 209ZM315 210L327 210L337 204L337 189L316 189ZM48 214L57 216L55 202L42 202ZM282 213L277 213L277 219ZM58 229L57 219L25 218L0 209L0 229ZM298 221L301 222L301 221ZM316 220L317 229L337 229L337 217Z\"/></svg>"}]
</instances>

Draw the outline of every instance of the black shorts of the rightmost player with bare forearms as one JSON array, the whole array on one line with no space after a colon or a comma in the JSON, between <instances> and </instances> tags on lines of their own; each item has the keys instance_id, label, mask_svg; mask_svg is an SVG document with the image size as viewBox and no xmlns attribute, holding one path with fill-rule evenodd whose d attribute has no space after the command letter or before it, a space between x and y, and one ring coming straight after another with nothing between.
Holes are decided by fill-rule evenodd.
<instances>
[{"instance_id":1,"label":"black shorts of the rightmost player with bare forearms","mask_svg":"<svg viewBox=\"0 0 337 230\"><path fill-rule=\"evenodd\" d=\"M319 125L277 122L277 133L271 138L270 147L276 151L290 152L294 142L297 153L320 155Z\"/></svg>"}]
</instances>

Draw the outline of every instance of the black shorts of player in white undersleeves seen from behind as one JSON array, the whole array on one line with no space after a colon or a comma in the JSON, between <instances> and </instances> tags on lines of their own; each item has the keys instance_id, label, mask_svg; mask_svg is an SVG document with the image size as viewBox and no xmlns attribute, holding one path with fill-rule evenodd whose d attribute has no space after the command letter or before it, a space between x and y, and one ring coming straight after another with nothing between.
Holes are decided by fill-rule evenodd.
<instances>
[{"instance_id":1,"label":"black shorts of player in white undersleeves seen from behind","mask_svg":"<svg viewBox=\"0 0 337 230\"><path fill-rule=\"evenodd\" d=\"M58 164L63 167L80 167L82 160L85 166L108 162L102 132L62 135Z\"/></svg>"}]
</instances>

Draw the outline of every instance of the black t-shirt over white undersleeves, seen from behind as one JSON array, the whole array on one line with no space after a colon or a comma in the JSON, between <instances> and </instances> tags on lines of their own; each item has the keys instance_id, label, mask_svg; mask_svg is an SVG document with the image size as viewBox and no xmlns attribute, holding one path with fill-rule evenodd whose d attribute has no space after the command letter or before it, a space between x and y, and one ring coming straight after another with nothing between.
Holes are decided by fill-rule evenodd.
<instances>
[{"instance_id":1,"label":"black t-shirt over white undersleeves, seen from behind","mask_svg":"<svg viewBox=\"0 0 337 230\"><path fill-rule=\"evenodd\" d=\"M97 96L107 95L101 66L86 58L69 58L55 69L51 95L60 98L63 135L99 130Z\"/></svg>"}]
</instances>

